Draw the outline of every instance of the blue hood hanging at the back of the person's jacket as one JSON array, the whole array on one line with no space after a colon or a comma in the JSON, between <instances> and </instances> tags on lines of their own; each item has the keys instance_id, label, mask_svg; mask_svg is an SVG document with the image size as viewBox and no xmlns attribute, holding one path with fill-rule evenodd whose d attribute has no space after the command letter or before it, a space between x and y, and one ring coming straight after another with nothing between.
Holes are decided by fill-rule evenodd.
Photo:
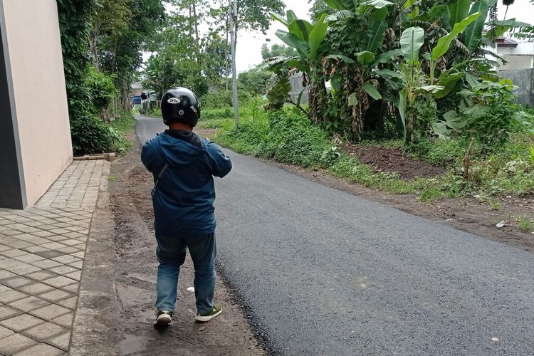
<instances>
[{"instance_id":1,"label":"blue hood hanging at the back of the person's jacket","mask_svg":"<svg viewBox=\"0 0 534 356\"><path fill-rule=\"evenodd\" d=\"M208 150L204 140L200 140L202 146L197 147L192 143L172 137L165 132L159 134L158 139L159 151L162 152L171 166L191 164Z\"/></svg>"}]
</instances>

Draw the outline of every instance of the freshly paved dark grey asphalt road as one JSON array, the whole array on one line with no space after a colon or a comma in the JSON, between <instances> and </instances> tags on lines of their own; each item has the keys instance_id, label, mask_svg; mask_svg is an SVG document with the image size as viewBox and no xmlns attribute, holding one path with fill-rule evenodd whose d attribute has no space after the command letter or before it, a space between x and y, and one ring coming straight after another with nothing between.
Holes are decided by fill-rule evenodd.
<instances>
[{"instance_id":1,"label":"freshly paved dark grey asphalt road","mask_svg":"<svg viewBox=\"0 0 534 356\"><path fill-rule=\"evenodd\" d=\"M532 253L229 155L218 260L273 351L534 355Z\"/></svg>"}]
</instances>

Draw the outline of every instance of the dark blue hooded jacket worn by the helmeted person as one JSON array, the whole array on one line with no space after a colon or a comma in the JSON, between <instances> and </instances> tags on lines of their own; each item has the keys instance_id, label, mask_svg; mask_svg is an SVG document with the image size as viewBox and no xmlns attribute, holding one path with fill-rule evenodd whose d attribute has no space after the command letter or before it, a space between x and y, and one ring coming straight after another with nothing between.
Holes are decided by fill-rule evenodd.
<instances>
[{"instance_id":1,"label":"dark blue hooded jacket worn by the helmeted person","mask_svg":"<svg viewBox=\"0 0 534 356\"><path fill-rule=\"evenodd\" d=\"M169 164L152 196L158 236L198 236L215 230L213 176L226 176L232 164L214 142L194 138L201 147L167 132L142 147L141 160L155 181Z\"/></svg>"}]
</instances>

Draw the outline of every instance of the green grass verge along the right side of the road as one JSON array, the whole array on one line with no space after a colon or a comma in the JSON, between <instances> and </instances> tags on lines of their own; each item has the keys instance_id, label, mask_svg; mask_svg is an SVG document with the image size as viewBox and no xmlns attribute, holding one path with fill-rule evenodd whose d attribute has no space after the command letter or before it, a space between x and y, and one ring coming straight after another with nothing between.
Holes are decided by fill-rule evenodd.
<instances>
[{"instance_id":1,"label":"green grass verge along the right side of the road","mask_svg":"<svg viewBox=\"0 0 534 356\"><path fill-rule=\"evenodd\" d=\"M223 110L213 112L216 117ZM231 115L202 120L199 127L221 128L214 140L236 152L310 169L325 169L335 177L365 187L393 194L417 194L419 201L424 203L439 201L443 197L476 195L486 197L492 209L497 210L500 203L490 197L534 194L534 164L530 160L534 135L526 132L513 133L506 145L493 150L476 142L468 179L463 177L462 161L470 137L422 140L405 150L407 155L446 167L446 173L436 178L406 181L399 179L397 174L374 172L357 157L333 149L332 138L310 124L299 112L285 109L268 114L259 109L258 103L248 103L241 106L240 113L239 127L234 126ZM399 140L365 141L362 144L403 147Z\"/></svg>"}]
</instances>

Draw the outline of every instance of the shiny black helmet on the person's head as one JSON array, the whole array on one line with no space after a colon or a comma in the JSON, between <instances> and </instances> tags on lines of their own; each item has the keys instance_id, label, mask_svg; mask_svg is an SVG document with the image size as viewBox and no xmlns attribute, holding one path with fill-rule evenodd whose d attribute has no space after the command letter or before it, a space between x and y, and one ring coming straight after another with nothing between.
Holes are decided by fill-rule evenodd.
<instances>
[{"instance_id":1,"label":"shiny black helmet on the person's head","mask_svg":"<svg viewBox=\"0 0 534 356\"><path fill-rule=\"evenodd\" d=\"M187 88L174 88L163 95L162 116L165 125L184 122L197 126L200 118L200 103L197 95Z\"/></svg>"}]
</instances>

